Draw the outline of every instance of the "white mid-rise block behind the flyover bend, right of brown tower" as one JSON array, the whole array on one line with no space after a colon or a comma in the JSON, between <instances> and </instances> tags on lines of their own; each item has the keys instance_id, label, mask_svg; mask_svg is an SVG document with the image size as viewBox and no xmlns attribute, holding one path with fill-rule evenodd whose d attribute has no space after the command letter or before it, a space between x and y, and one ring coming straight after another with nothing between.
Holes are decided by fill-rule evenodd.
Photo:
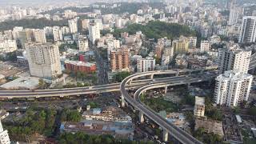
<instances>
[{"instance_id":1,"label":"white mid-rise block behind the flyover bend, right of brown tower","mask_svg":"<svg viewBox=\"0 0 256 144\"><path fill-rule=\"evenodd\" d=\"M137 60L137 71L146 72L154 70L155 68L155 59L154 58L139 58Z\"/></svg>"}]
</instances>

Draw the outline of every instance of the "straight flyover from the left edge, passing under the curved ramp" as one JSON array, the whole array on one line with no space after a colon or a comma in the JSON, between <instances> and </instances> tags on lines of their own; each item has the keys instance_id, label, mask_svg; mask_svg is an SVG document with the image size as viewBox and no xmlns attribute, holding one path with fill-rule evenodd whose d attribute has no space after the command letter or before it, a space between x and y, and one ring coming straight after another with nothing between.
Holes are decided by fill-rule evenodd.
<instances>
[{"instance_id":1,"label":"straight flyover from the left edge, passing under the curved ramp","mask_svg":"<svg viewBox=\"0 0 256 144\"><path fill-rule=\"evenodd\" d=\"M174 79L184 80L185 76L155 78L154 82L151 79L136 80L133 86L126 86L128 89L135 89L147 84L158 82L170 82ZM100 86L86 86L66 89L48 89L48 90L0 90L0 98L42 98L42 97L66 97L82 94L99 94L106 92L120 91L121 83L114 83Z\"/></svg>"}]
</instances>

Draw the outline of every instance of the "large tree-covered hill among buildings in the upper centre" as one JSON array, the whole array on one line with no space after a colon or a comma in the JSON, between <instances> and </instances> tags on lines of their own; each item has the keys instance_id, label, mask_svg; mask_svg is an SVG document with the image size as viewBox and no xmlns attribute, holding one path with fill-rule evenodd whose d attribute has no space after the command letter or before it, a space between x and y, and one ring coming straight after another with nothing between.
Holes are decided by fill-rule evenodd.
<instances>
[{"instance_id":1,"label":"large tree-covered hill among buildings in the upper centre","mask_svg":"<svg viewBox=\"0 0 256 144\"><path fill-rule=\"evenodd\" d=\"M160 21L148 22L146 25L130 24L124 29L115 29L113 34L116 38L120 38L120 34L123 32L129 32L129 34L135 34L137 31L142 31L146 34L147 38L177 38L181 35L184 36L196 36L196 31L191 30L188 26L179 25L177 23L167 23Z\"/></svg>"}]
</instances>

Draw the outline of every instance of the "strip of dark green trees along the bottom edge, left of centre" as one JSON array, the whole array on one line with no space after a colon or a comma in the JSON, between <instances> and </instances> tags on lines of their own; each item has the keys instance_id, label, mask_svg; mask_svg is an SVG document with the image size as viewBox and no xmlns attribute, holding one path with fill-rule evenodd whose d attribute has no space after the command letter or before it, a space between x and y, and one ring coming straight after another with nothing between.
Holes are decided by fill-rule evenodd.
<instances>
[{"instance_id":1,"label":"strip of dark green trees along the bottom edge, left of centre","mask_svg":"<svg viewBox=\"0 0 256 144\"><path fill-rule=\"evenodd\" d=\"M82 132L76 134L63 133L58 137L58 142L62 144L78 144L78 143L88 143L88 144L153 144L152 141L130 141L128 139L118 139L114 138L112 135L89 135Z\"/></svg>"}]
</instances>

